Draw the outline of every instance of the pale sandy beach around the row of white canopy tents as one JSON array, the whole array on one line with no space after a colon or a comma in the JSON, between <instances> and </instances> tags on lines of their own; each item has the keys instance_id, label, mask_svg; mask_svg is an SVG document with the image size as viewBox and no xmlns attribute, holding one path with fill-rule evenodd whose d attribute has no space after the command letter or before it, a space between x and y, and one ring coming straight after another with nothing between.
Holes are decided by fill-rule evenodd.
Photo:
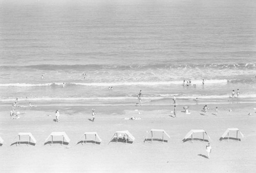
<instances>
[{"instance_id":1,"label":"pale sandy beach around the row of white canopy tents","mask_svg":"<svg viewBox=\"0 0 256 173\"><path fill-rule=\"evenodd\" d=\"M218 116L214 108L218 106ZM1 106L0 146L1 172L255 172L256 110L253 104L208 105L208 116L201 115L203 105L190 106L190 115L177 106L177 118L169 115L173 106L47 106L19 109L20 119L10 119L10 106ZM96 109L91 122L91 109ZM53 121L54 111L60 122ZM137 110L138 111L135 111ZM228 110L231 109L232 112ZM139 114L139 112L141 114ZM248 113L251 115L247 115ZM51 116L48 116L51 115ZM141 120L124 120L125 117ZM219 141L227 128L238 127L241 141ZM168 142L143 143L146 131L165 129ZM182 142L190 129L204 129L211 137L212 153L207 156L207 142ZM115 131L128 130L136 139L133 144L109 141ZM31 132L35 146L10 144L19 132ZM44 145L51 132L66 132L68 145ZM97 132L100 145L78 144L84 132ZM235 136L235 134L233 134ZM198 135L196 137L201 137ZM16 138L17 139L17 138ZM167 138L165 138L167 139Z\"/></svg>"}]
</instances>

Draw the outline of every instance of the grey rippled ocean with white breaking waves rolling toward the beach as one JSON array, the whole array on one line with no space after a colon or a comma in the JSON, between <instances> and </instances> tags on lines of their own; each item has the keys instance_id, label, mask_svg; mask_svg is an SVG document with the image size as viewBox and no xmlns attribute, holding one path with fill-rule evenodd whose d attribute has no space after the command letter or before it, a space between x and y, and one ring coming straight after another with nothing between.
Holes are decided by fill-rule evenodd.
<instances>
[{"instance_id":1,"label":"grey rippled ocean with white breaking waves rolling toward the beach","mask_svg":"<svg viewBox=\"0 0 256 173\"><path fill-rule=\"evenodd\" d=\"M135 105L140 90L144 105L174 95L256 102L255 1L1 0L0 9L1 104Z\"/></svg>"}]
</instances>

